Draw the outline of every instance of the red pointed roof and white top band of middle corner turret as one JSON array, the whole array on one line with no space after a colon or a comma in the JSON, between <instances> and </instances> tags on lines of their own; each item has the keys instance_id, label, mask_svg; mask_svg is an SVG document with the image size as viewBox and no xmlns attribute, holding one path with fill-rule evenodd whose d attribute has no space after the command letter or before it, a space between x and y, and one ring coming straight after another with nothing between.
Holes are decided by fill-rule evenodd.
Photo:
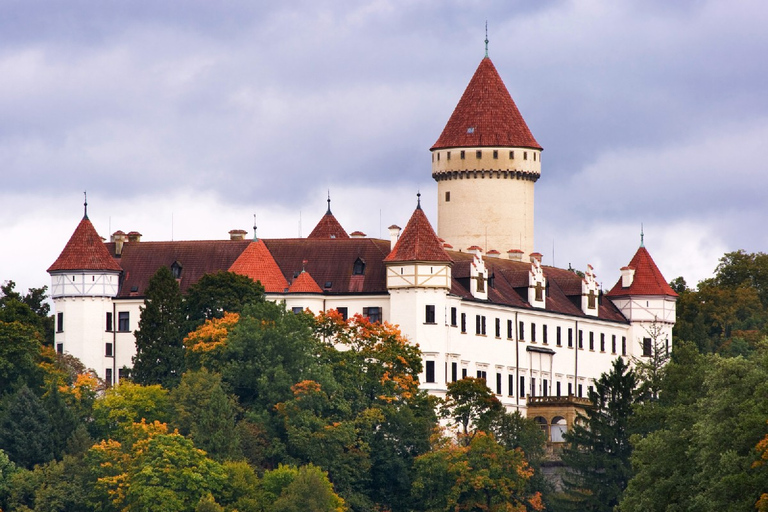
<instances>
[{"instance_id":1,"label":"red pointed roof and white top band of middle corner turret","mask_svg":"<svg viewBox=\"0 0 768 512\"><path fill-rule=\"evenodd\" d=\"M429 223L421 202L392 251L384 258L387 288L451 289L453 261Z\"/></svg>"}]
</instances>

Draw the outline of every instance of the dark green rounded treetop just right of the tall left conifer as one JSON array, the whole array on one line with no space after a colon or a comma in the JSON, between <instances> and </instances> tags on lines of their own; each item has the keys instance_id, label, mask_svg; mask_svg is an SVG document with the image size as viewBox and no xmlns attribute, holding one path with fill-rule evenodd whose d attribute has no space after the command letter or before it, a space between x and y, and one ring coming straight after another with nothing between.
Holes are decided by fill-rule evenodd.
<instances>
[{"instance_id":1,"label":"dark green rounded treetop just right of the tall left conifer","mask_svg":"<svg viewBox=\"0 0 768 512\"><path fill-rule=\"evenodd\" d=\"M248 276L220 270L205 274L187 290L184 312L187 332L205 320L224 313L240 313L249 304L264 300L264 287Z\"/></svg>"}]
</instances>

